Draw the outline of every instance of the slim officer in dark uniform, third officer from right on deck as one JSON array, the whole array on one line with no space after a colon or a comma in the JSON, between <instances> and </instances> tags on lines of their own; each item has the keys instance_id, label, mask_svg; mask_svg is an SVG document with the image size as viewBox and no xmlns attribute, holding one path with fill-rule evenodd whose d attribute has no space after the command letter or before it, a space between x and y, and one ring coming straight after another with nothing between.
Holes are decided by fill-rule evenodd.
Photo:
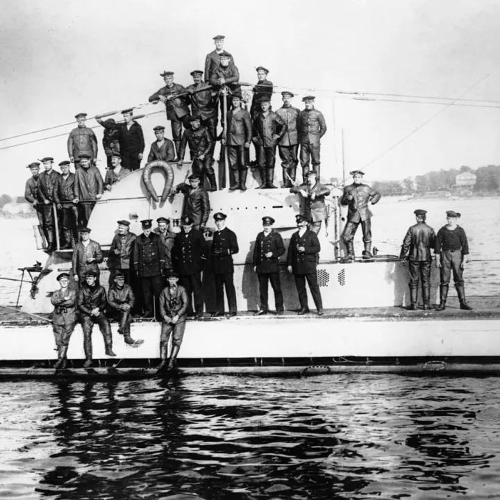
<instances>
[{"instance_id":1,"label":"slim officer in dark uniform, third officer from right on deck","mask_svg":"<svg viewBox=\"0 0 500 500\"><path fill-rule=\"evenodd\" d=\"M233 254L238 253L238 239L231 229L226 228L227 215L222 212L214 214L217 231L212 242L212 270L215 280L215 313L213 316L224 315L224 287L228 299L229 314L235 316L238 311L236 305L236 291L234 287Z\"/></svg>"}]
</instances>

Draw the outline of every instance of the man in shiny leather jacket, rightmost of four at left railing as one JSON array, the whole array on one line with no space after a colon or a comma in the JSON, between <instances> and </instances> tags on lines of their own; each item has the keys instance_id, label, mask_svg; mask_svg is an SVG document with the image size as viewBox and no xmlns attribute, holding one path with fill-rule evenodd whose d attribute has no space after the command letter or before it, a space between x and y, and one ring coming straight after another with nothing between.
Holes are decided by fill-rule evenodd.
<instances>
[{"instance_id":1,"label":"man in shiny leather jacket, rightmost of four at left railing","mask_svg":"<svg viewBox=\"0 0 500 500\"><path fill-rule=\"evenodd\" d=\"M90 155L83 153L79 157L80 167L75 172L74 203L78 203L79 222L87 226L92 210L104 191L101 172L95 165L90 165Z\"/></svg>"}]
</instances>

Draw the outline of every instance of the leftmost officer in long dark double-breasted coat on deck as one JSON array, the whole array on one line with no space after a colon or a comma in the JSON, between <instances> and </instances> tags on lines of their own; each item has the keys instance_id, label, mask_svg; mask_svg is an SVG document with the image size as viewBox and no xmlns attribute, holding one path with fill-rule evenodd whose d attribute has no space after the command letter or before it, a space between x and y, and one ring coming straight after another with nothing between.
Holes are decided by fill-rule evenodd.
<instances>
[{"instance_id":1,"label":"leftmost officer in long dark double-breasted coat on deck","mask_svg":"<svg viewBox=\"0 0 500 500\"><path fill-rule=\"evenodd\" d=\"M151 231L152 219L144 219L142 235L134 240L133 260L135 273L140 278L144 296L144 317L160 317L162 275L165 269L165 250L159 236Z\"/></svg>"}]
</instances>

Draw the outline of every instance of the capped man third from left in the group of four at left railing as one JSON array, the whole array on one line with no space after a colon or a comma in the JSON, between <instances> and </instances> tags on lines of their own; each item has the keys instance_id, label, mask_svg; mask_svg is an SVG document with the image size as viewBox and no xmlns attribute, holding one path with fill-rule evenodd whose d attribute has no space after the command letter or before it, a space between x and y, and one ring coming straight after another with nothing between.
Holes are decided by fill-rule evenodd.
<instances>
[{"instance_id":1,"label":"capped man third from left in the group of four at left railing","mask_svg":"<svg viewBox=\"0 0 500 500\"><path fill-rule=\"evenodd\" d=\"M69 161L65 160L59 163L61 174L58 178L58 183L54 187L53 197L57 204L63 222L63 238L64 244L61 249L72 248L72 240L75 244L78 241L78 207L74 203L75 196L75 174L69 172Z\"/></svg>"}]
</instances>

